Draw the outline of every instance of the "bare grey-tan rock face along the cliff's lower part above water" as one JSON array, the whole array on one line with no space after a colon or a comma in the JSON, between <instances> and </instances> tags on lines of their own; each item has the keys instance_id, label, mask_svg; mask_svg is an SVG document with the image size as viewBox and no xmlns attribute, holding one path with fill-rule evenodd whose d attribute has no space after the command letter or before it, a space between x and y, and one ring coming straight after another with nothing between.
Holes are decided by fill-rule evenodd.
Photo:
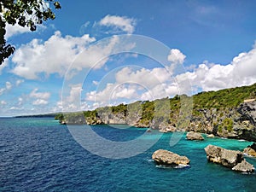
<instances>
[{"instance_id":1,"label":"bare grey-tan rock face along the cliff's lower part above water","mask_svg":"<svg viewBox=\"0 0 256 192\"><path fill-rule=\"evenodd\" d=\"M256 141L256 101L243 102L238 108L197 109L188 122L178 125L178 115L172 119L155 117L143 119L140 110L112 112L100 110L95 117L85 117L84 114L65 119L67 124L127 124L136 127L150 127L162 132L168 131L195 131L213 134L218 137L239 138Z\"/></svg>"}]
</instances>

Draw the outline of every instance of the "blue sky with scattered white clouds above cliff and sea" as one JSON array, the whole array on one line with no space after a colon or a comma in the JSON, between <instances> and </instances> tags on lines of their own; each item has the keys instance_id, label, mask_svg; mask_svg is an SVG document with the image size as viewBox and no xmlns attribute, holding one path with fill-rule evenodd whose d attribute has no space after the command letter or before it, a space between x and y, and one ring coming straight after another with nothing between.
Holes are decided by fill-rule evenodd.
<instances>
[{"instance_id":1,"label":"blue sky with scattered white clouds above cliff and sea","mask_svg":"<svg viewBox=\"0 0 256 192\"><path fill-rule=\"evenodd\" d=\"M7 26L0 116L94 108L256 83L255 1L60 0Z\"/></svg>"}]
</instances>

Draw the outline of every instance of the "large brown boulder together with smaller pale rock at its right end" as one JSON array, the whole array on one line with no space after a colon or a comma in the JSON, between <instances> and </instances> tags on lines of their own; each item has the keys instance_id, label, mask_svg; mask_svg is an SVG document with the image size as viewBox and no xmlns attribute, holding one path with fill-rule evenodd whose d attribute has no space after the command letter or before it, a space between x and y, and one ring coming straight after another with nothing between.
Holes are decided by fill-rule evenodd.
<instances>
[{"instance_id":1,"label":"large brown boulder together with smaller pale rock at its right end","mask_svg":"<svg viewBox=\"0 0 256 192\"><path fill-rule=\"evenodd\" d=\"M254 167L246 160L240 151L228 150L214 145L205 148L207 160L232 168L237 172L254 172Z\"/></svg>"}]
</instances>

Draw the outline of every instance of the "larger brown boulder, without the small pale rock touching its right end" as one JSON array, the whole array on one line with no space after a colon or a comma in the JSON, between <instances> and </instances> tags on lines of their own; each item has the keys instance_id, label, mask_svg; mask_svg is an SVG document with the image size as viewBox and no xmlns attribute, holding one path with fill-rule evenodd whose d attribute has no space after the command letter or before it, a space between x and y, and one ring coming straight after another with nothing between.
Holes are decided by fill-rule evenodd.
<instances>
[{"instance_id":1,"label":"larger brown boulder, without the small pale rock touching its right end","mask_svg":"<svg viewBox=\"0 0 256 192\"><path fill-rule=\"evenodd\" d=\"M236 166L243 160L240 151L228 150L214 145L208 145L205 151L207 153L207 160L227 167Z\"/></svg>"}]
</instances>

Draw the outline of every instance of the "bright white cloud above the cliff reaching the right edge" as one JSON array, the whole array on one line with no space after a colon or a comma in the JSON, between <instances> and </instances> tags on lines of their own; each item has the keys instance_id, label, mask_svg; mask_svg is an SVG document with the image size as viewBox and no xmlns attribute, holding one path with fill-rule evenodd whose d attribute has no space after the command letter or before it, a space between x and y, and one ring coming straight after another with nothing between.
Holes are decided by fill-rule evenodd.
<instances>
[{"instance_id":1,"label":"bright white cloud above the cliff reaching the right edge","mask_svg":"<svg viewBox=\"0 0 256 192\"><path fill-rule=\"evenodd\" d=\"M189 79L199 90L220 90L256 82L256 47L234 57L228 65L202 63L194 72L177 75L177 80ZM187 86L183 84L183 86Z\"/></svg>"}]
</instances>

